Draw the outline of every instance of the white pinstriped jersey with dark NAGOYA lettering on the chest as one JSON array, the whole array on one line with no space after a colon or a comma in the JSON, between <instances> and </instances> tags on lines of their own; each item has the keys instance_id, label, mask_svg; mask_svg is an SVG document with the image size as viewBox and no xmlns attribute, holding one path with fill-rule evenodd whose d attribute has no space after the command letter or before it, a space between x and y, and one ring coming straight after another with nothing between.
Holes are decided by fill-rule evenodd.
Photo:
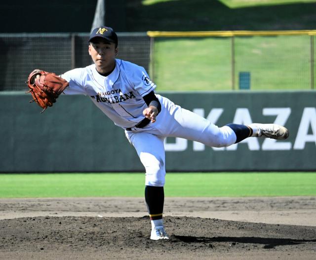
<instances>
[{"instance_id":1,"label":"white pinstriped jersey with dark NAGOYA lettering on the chest","mask_svg":"<svg viewBox=\"0 0 316 260\"><path fill-rule=\"evenodd\" d=\"M156 85L145 69L122 60L116 60L114 71L102 76L92 64L61 75L69 82L65 94L84 94L113 122L123 128L133 127L144 119L147 105L143 96Z\"/></svg>"}]
</instances>

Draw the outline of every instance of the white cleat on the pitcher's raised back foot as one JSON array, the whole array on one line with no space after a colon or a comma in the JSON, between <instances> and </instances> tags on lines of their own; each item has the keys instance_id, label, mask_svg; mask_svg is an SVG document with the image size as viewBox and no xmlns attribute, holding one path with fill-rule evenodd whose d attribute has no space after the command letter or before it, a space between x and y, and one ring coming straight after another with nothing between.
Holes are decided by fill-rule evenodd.
<instances>
[{"instance_id":1,"label":"white cleat on the pitcher's raised back foot","mask_svg":"<svg viewBox=\"0 0 316 260\"><path fill-rule=\"evenodd\" d=\"M276 140L285 140L289 136L287 128L277 124L250 124L254 137L269 137Z\"/></svg>"}]
</instances>

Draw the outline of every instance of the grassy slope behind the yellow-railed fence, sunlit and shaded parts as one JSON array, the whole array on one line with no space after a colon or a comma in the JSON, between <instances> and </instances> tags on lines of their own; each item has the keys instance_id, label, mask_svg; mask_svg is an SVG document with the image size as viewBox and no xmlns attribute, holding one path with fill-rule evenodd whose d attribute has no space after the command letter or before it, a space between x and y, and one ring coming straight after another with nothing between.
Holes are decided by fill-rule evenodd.
<instances>
[{"instance_id":1,"label":"grassy slope behind the yellow-railed fence, sunlit and shaded parts","mask_svg":"<svg viewBox=\"0 0 316 260\"><path fill-rule=\"evenodd\" d=\"M315 0L133 0L127 10L136 15L126 19L140 32L315 30L314 9ZM234 88L239 72L250 72L251 90L311 89L310 42L236 37ZM150 74L158 91L233 89L230 37L155 38L154 47Z\"/></svg>"}]
</instances>

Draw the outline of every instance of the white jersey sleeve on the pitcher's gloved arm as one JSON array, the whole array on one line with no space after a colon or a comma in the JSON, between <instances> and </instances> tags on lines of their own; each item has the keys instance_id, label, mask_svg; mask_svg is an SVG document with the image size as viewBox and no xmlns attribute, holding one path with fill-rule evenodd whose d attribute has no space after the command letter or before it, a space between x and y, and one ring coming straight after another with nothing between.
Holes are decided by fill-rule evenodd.
<instances>
[{"instance_id":1,"label":"white jersey sleeve on the pitcher's gloved arm","mask_svg":"<svg viewBox=\"0 0 316 260\"><path fill-rule=\"evenodd\" d=\"M64 90L66 95L84 94L86 95L86 88L83 83L84 69L74 69L61 74L61 77L66 79L69 83L69 87Z\"/></svg>"}]
</instances>

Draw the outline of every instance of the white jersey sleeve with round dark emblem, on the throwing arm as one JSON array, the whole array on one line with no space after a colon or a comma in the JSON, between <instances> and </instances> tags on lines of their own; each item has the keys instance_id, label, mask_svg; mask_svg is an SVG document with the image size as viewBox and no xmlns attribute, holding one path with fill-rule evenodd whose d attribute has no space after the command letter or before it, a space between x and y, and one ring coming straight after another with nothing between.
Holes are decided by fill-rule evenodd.
<instances>
[{"instance_id":1,"label":"white jersey sleeve with round dark emblem, on the throwing arm","mask_svg":"<svg viewBox=\"0 0 316 260\"><path fill-rule=\"evenodd\" d=\"M156 84L150 80L149 75L143 67L138 67L138 69L134 71L133 76L134 88L142 97L155 90Z\"/></svg>"}]
</instances>

